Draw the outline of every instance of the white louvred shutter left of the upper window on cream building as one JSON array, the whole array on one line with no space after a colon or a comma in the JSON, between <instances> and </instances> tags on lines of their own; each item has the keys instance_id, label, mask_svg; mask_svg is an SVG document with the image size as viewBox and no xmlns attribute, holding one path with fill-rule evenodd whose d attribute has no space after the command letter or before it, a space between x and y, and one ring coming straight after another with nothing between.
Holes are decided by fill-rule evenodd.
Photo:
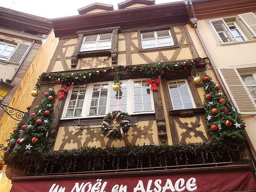
<instances>
[{"instance_id":1,"label":"white louvred shutter left of the upper window on cream building","mask_svg":"<svg viewBox=\"0 0 256 192\"><path fill-rule=\"evenodd\" d=\"M227 43L236 41L229 27L223 19L209 21L219 37L220 42Z\"/></svg>"}]
</instances>

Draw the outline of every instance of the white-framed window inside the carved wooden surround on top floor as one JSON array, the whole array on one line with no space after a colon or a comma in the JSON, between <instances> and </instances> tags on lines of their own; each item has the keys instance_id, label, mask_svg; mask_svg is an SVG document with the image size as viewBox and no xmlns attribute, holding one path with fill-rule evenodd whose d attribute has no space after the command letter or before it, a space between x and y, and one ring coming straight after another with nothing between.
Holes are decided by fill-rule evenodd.
<instances>
[{"instance_id":1,"label":"white-framed window inside the carved wooden surround on top floor","mask_svg":"<svg viewBox=\"0 0 256 192\"><path fill-rule=\"evenodd\" d=\"M112 33L85 36L80 51L111 49Z\"/></svg>"}]
</instances>

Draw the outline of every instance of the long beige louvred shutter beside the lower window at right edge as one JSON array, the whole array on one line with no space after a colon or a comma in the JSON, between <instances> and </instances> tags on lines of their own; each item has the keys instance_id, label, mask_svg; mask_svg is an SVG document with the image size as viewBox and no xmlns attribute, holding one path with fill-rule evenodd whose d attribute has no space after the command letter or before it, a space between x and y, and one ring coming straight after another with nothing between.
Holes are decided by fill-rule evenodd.
<instances>
[{"instance_id":1,"label":"long beige louvred shutter beside the lower window at right edge","mask_svg":"<svg viewBox=\"0 0 256 192\"><path fill-rule=\"evenodd\" d=\"M255 114L256 104L235 68L219 68L219 74L230 97L241 114Z\"/></svg>"}]
</instances>

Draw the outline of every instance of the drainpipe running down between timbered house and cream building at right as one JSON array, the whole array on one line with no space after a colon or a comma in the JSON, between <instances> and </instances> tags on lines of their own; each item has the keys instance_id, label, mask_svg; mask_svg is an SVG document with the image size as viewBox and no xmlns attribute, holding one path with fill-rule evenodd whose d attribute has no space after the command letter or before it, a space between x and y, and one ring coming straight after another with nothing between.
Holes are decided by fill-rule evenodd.
<instances>
[{"instance_id":1,"label":"drainpipe running down between timbered house and cream building at right","mask_svg":"<svg viewBox=\"0 0 256 192\"><path fill-rule=\"evenodd\" d=\"M196 18L196 16L195 16L195 12L194 12L194 9L193 9L192 0L189 0L189 1L187 1L187 2L185 1L184 4L185 4L186 8L187 8L187 5L189 5L189 8L187 9L187 11L189 10L189 11L188 11L188 15L189 15L189 16L192 16L192 18L189 18L189 24L190 24L191 27L194 28L195 32L197 33L197 37L199 38L199 41L200 41L200 43L201 43L202 46L203 46L203 50L204 50L204 52L206 53L206 55L207 55L207 57L208 57L208 59L209 59L209 61L210 61L210 65L211 65L212 68L213 68L214 75L216 76L217 80L219 81L219 84L221 85L221 88L222 88L224 94L225 94L225 95L227 96L227 98L229 99L230 105L231 105L232 107L235 107L233 101L231 100L231 97L230 97L230 95L229 95L229 92L228 92L226 86L224 85L224 82L223 82L223 80L221 79L221 76L219 75L219 72L218 72L218 70L217 70L217 68L216 68L216 66L215 66L215 64L214 64L214 62L213 62L213 59L212 59L210 53L208 52L208 49L206 48L206 45L205 45L205 43L203 42L203 39L202 39L202 37L201 37L199 31L197 30L197 18Z\"/></svg>"}]
</instances>

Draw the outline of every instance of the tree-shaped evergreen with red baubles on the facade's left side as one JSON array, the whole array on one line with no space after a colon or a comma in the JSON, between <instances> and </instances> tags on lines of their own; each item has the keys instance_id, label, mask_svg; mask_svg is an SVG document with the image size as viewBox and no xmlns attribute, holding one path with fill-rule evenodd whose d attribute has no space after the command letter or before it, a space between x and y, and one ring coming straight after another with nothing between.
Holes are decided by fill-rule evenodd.
<instances>
[{"instance_id":1,"label":"tree-shaped evergreen with red baubles on the facade's left side","mask_svg":"<svg viewBox=\"0 0 256 192\"><path fill-rule=\"evenodd\" d=\"M53 96L53 100L49 99L49 96ZM28 117L26 122L21 121L17 124L17 127L13 131L14 133L11 133L10 139L6 140L6 142L8 142L8 146L2 149L7 152L7 154L4 156L4 160L14 155L14 153L12 153L14 148L16 150L15 155L22 155L22 157L31 157L32 154L38 155L50 149L52 145L50 143L50 139L48 138L48 132L52 130L51 123L53 120L54 96L55 91L50 88L48 95L44 96L39 107L34 109L34 113L36 115L33 117ZM44 113L45 111L49 111L50 114L46 115ZM37 119L41 119L43 123L37 124ZM48 121L48 123L45 123L44 120ZM23 125L28 126L24 131L21 129ZM16 144L19 137L23 140L20 144ZM38 142L32 143L32 138L37 138ZM26 145L28 144L32 145L31 149L26 149Z\"/></svg>"}]
</instances>

